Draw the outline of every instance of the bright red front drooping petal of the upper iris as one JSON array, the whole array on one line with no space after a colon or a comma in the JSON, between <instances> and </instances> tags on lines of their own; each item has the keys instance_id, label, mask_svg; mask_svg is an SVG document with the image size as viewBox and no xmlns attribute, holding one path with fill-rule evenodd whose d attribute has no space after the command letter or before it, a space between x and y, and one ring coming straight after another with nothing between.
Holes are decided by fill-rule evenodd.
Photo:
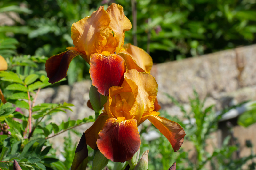
<instances>
[{"instance_id":1,"label":"bright red front drooping petal of the upper iris","mask_svg":"<svg viewBox=\"0 0 256 170\"><path fill-rule=\"evenodd\" d=\"M104 96L108 96L110 87L122 85L125 71L124 59L117 54L92 54L90 57L92 85Z\"/></svg>"}]
</instances>

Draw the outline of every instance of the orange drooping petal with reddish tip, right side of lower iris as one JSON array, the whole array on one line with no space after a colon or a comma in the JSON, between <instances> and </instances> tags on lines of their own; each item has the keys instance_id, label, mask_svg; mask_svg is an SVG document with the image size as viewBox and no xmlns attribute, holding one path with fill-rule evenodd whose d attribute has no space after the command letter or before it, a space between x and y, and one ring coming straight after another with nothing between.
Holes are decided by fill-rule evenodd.
<instances>
[{"instance_id":1,"label":"orange drooping petal with reddish tip, right side of lower iris","mask_svg":"<svg viewBox=\"0 0 256 170\"><path fill-rule=\"evenodd\" d=\"M148 120L169 140L174 152L178 151L183 144L185 131L176 122L170 121L157 115L147 116Z\"/></svg>"}]
</instances>

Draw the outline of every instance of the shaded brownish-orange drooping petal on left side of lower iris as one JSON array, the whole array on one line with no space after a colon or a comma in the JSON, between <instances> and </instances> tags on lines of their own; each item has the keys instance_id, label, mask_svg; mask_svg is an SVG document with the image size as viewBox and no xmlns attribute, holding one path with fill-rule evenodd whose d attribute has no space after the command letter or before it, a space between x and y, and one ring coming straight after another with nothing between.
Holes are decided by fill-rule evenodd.
<instances>
[{"instance_id":1,"label":"shaded brownish-orange drooping petal on left side of lower iris","mask_svg":"<svg viewBox=\"0 0 256 170\"><path fill-rule=\"evenodd\" d=\"M108 119L107 113L101 113L92 126L85 131L86 143L92 148L97 149L97 137L99 131L102 129L106 120Z\"/></svg>"}]
</instances>

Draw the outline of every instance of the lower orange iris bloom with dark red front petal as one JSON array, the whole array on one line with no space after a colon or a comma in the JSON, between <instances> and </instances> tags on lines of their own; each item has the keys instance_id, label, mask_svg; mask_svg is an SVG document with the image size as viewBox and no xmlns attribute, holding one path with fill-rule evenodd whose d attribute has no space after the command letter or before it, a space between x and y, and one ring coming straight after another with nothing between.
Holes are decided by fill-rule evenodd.
<instances>
[{"instance_id":1,"label":"lower orange iris bloom with dark red front petal","mask_svg":"<svg viewBox=\"0 0 256 170\"><path fill-rule=\"evenodd\" d=\"M140 148L137 127L148 119L170 141L174 151L179 150L185 132L178 123L154 111L157 88L152 75L128 70L121 87L109 89L105 112L86 130L86 143L98 148L107 159L125 162Z\"/></svg>"}]
</instances>

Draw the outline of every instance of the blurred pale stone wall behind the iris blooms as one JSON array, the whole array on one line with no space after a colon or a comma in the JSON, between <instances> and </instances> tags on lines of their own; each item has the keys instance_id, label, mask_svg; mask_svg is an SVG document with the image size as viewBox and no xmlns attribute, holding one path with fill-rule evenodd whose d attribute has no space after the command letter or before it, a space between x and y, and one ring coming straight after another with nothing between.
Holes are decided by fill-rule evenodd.
<instances>
[{"instance_id":1,"label":"blurred pale stone wall behind the iris blooms","mask_svg":"<svg viewBox=\"0 0 256 170\"><path fill-rule=\"evenodd\" d=\"M193 97L193 88L201 99L206 98L206 105L215 104L216 110L226 106L241 103L247 100L256 100L256 45L240 47L232 50L220 51L199 57L188 58L180 61L166 62L153 65L151 74L158 83L158 101L162 109L170 115L182 117L177 106L174 106L166 93L183 103L189 110L189 97ZM58 88L42 89L37 103L72 103L73 112L67 114L57 113L52 122L61 123L68 117L71 119L83 119L93 115L94 112L87 107L89 100L90 80L77 82L73 86L62 85ZM91 124L80 126L78 130L85 131ZM234 136L238 138L240 148L245 149L241 156L250 154L246 152L245 140L251 140L256 146L256 125L250 128L235 126ZM224 130L224 131L223 131ZM214 133L214 140L210 141L209 151L218 147L223 140L225 128ZM252 135L254 134L254 135ZM56 147L63 142L63 135L54 139ZM79 138L79 137L78 137ZM79 140L77 138L77 140ZM58 142L57 142L58 141ZM191 147L184 143L184 147ZM254 147L256 152L256 147ZM193 155L193 154L192 154Z\"/></svg>"}]
</instances>

